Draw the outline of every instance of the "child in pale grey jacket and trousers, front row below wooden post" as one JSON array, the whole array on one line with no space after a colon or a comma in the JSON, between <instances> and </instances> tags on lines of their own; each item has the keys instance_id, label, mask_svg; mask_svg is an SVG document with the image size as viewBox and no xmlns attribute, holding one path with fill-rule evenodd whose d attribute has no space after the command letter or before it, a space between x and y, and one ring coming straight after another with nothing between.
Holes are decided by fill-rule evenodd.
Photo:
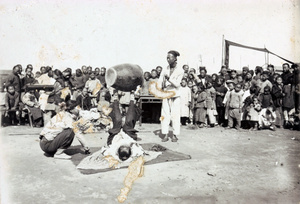
<instances>
[{"instance_id":1,"label":"child in pale grey jacket and trousers, front row below wooden post","mask_svg":"<svg viewBox=\"0 0 300 204\"><path fill-rule=\"evenodd\" d=\"M239 130L241 127L242 94L241 84L235 85L234 90L230 92L228 99L228 128L234 127L234 120L236 121L236 129Z\"/></svg>"}]
</instances>

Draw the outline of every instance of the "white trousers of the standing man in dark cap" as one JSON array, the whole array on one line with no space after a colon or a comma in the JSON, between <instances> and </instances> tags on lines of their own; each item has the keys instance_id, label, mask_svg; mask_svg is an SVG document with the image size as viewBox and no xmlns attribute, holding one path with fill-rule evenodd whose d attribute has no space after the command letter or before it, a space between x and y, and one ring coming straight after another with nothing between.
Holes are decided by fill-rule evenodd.
<instances>
[{"instance_id":1,"label":"white trousers of the standing man in dark cap","mask_svg":"<svg viewBox=\"0 0 300 204\"><path fill-rule=\"evenodd\" d=\"M180 97L163 99L161 107L161 132L169 133L169 125L172 121L173 133L180 134Z\"/></svg>"}]
</instances>

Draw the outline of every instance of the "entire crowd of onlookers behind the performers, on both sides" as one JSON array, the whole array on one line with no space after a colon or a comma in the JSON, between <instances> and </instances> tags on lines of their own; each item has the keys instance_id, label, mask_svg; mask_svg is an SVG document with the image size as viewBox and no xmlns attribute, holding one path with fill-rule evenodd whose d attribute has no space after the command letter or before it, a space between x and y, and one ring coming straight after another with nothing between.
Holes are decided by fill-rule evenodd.
<instances>
[{"instance_id":1,"label":"entire crowd of onlookers behind the performers, on both sides","mask_svg":"<svg viewBox=\"0 0 300 204\"><path fill-rule=\"evenodd\" d=\"M183 66L181 83L181 123L193 128L217 125L233 128L275 130L299 128L299 65L282 65L277 73L273 65L265 68L243 67L241 72L222 66L218 74L208 75L205 67ZM42 126L58 112L61 102L82 110L95 108L101 102L111 102L116 90L106 87L106 68L82 66L75 73L41 67L35 74L32 65L25 72L21 65L2 82L5 105L1 107L2 123L22 124L26 114L34 126ZM144 86L139 95L149 94L149 83L157 81L162 67L144 72ZM30 85L44 88L32 88ZM34 87L34 86L33 86ZM49 88L50 87L50 88ZM2 90L3 91L3 90ZM130 93L117 91L123 113L130 101Z\"/></svg>"}]
</instances>

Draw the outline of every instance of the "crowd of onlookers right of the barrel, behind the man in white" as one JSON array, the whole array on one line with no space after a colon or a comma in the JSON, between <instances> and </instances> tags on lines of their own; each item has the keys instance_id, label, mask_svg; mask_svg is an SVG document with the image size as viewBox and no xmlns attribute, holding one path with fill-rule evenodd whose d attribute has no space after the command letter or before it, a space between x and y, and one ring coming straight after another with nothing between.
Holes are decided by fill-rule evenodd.
<instances>
[{"instance_id":1,"label":"crowd of onlookers right of the barrel, behind the man in white","mask_svg":"<svg viewBox=\"0 0 300 204\"><path fill-rule=\"evenodd\" d=\"M193 128L278 128L299 129L299 65L243 67L241 72L222 66L218 74L207 74L205 67L183 66L181 123ZM147 84L156 80L161 68L144 73Z\"/></svg>"}]
</instances>

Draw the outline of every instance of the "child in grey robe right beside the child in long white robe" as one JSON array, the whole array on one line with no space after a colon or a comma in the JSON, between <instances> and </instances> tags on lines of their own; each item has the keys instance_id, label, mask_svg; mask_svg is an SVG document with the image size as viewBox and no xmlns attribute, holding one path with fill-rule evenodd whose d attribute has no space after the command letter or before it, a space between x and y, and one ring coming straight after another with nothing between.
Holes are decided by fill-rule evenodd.
<instances>
[{"instance_id":1,"label":"child in grey robe right beside the child in long white robe","mask_svg":"<svg viewBox=\"0 0 300 204\"><path fill-rule=\"evenodd\" d=\"M196 89L193 86L193 89ZM199 128L203 128L205 126L205 119L206 119L206 98L207 98L207 93L204 88L197 87L198 91L197 94L194 95L194 115L195 115L195 125L198 126Z\"/></svg>"}]
</instances>

